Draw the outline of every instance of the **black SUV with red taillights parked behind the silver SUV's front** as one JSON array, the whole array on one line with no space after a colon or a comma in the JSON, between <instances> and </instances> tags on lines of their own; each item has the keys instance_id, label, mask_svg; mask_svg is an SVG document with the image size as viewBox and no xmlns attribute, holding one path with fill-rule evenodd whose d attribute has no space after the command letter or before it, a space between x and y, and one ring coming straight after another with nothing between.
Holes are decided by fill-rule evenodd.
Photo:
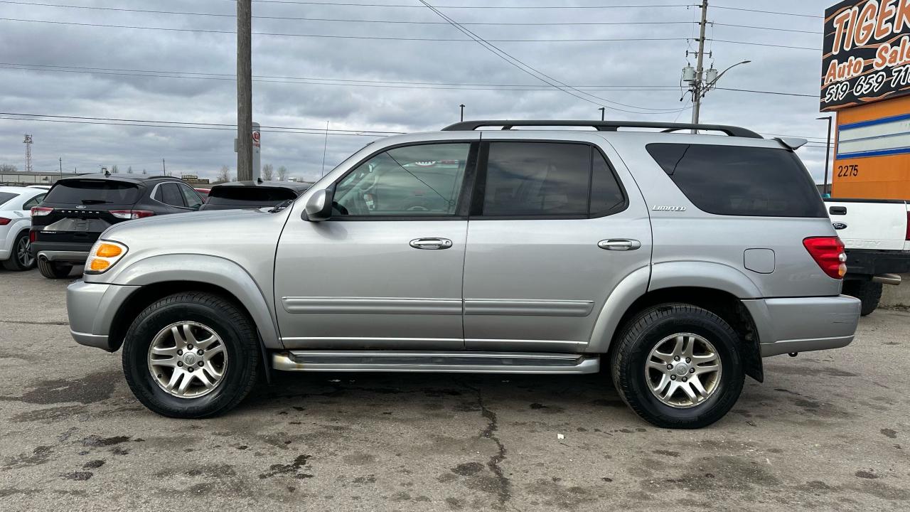
<instances>
[{"instance_id":1,"label":"black SUV with red taillights parked behind the silver SUV's front","mask_svg":"<svg viewBox=\"0 0 910 512\"><path fill-rule=\"evenodd\" d=\"M85 263L111 224L198 210L202 198L169 176L83 174L59 179L32 209L31 251L41 275L61 279Z\"/></svg>"}]
</instances>

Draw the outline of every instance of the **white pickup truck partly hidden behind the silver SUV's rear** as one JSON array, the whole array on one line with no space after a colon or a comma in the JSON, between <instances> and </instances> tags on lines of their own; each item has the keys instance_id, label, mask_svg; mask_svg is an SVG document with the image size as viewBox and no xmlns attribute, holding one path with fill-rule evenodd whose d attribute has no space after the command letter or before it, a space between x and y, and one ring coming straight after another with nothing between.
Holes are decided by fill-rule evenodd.
<instances>
[{"instance_id":1,"label":"white pickup truck partly hidden behind the silver SUV's rear","mask_svg":"<svg viewBox=\"0 0 910 512\"><path fill-rule=\"evenodd\" d=\"M844 241L844 293L875 311L883 284L900 284L910 272L910 208L905 200L825 199L834 230Z\"/></svg>"}]
</instances>

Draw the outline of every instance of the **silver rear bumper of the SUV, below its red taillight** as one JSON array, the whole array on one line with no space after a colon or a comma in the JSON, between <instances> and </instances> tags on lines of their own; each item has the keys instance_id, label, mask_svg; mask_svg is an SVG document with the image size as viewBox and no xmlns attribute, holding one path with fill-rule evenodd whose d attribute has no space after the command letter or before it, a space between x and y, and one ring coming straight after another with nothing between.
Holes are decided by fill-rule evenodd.
<instances>
[{"instance_id":1,"label":"silver rear bumper of the SUV, below its red taillight","mask_svg":"<svg viewBox=\"0 0 910 512\"><path fill-rule=\"evenodd\" d=\"M854 339L860 302L854 297L743 301L758 329L762 357L844 347Z\"/></svg>"}]
</instances>

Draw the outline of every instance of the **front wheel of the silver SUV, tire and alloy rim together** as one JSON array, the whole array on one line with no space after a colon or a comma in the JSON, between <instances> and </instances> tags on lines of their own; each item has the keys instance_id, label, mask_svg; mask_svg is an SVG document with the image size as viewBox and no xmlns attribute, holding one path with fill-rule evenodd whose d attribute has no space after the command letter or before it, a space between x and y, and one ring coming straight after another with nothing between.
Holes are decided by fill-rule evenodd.
<instances>
[{"instance_id":1,"label":"front wheel of the silver SUV, tire and alloy rim together","mask_svg":"<svg viewBox=\"0 0 910 512\"><path fill-rule=\"evenodd\" d=\"M236 304L204 292L170 295L139 313L126 332L126 384L168 417L220 415L257 381L256 329Z\"/></svg>"}]
</instances>

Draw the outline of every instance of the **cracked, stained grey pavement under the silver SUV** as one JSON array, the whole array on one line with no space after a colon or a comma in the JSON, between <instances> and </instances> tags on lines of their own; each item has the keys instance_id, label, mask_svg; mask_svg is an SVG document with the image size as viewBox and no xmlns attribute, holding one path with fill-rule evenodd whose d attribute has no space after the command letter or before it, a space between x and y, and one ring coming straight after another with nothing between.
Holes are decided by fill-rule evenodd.
<instances>
[{"instance_id":1,"label":"cracked, stained grey pavement under the silver SUV","mask_svg":"<svg viewBox=\"0 0 910 512\"><path fill-rule=\"evenodd\" d=\"M72 280L0 271L0 510L906 510L910 312L765 359L719 423L652 427L605 375L278 374L149 413L77 345ZM564 435L558 439L557 435Z\"/></svg>"}]
</instances>

